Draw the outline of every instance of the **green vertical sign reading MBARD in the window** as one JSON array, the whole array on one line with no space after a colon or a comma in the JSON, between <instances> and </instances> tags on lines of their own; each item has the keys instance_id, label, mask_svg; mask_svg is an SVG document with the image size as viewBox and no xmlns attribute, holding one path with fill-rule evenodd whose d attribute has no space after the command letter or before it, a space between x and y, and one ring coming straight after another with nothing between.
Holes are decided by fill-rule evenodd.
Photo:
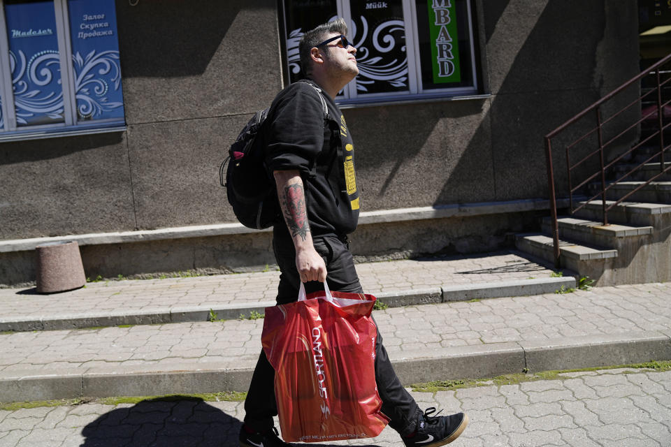
<instances>
[{"instance_id":1,"label":"green vertical sign reading MBARD in the window","mask_svg":"<svg viewBox=\"0 0 671 447\"><path fill-rule=\"evenodd\" d=\"M459 39L452 0L428 0L427 4L433 82L460 82Z\"/></svg>"}]
</instances>

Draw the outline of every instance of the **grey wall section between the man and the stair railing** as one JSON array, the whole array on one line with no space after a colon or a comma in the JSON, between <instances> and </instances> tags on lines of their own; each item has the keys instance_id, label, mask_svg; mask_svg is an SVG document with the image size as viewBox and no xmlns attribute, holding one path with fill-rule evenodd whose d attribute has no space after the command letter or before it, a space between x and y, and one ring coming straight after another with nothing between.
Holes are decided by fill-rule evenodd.
<instances>
[{"instance_id":1,"label":"grey wall section between the man and the stair railing","mask_svg":"<svg viewBox=\"0 0 671 447\"><path fill-rule=\"evenodd\" d=\"M639 71L635 2L482 6L491 98L345 112L369 204L547 197L543 136ZM563 186L563 152L554 164Z\"/></svg>"}]
</instances>

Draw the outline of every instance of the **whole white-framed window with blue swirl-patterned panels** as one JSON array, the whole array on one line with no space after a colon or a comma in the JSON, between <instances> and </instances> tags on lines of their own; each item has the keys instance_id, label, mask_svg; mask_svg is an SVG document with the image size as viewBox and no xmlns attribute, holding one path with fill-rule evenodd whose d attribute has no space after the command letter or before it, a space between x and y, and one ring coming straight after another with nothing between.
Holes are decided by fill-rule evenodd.
<instances>
[{"instance_id":1,"label":"whole white-framed window with blue swirl-patterned panels","mask_svg":"<svg viewBox=\"0 0 671 447\"><path fill-rule=\"evenodd\" d=\"M0 6L0 141L125 129L113 0Z\"/></svg>"}]
</instances>

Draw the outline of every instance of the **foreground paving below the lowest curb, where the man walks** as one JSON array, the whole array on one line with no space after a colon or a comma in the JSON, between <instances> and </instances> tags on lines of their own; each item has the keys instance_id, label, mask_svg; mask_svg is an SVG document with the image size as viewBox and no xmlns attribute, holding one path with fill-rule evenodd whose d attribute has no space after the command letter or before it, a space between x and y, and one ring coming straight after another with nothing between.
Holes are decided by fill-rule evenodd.
<instances>
[{"instance_id":1,"label":"foreground paving below the lowest curb, where the man walks","mask_svg":"<svg viewBox=\"0 0 671 447\"><path fill-rule=\"evenodd\" d=\"M671 372L612 369L561 379L415 393L422 408L466 411L454 447L666 447ZM243 402L147 402L0 411L1 447L237 447ZM275 425L279 427L277 420ZM308 444L301 444L308 445ZM356 441L309 444L402 447L394 430Z\"/></svg>"}]
</instances>

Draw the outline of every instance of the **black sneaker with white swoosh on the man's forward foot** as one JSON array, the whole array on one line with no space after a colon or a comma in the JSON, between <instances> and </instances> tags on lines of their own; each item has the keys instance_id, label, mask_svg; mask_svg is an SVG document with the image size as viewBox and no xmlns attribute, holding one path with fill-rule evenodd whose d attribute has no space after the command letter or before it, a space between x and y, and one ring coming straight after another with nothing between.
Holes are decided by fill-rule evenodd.
<instances>
[{"instance_id":1,"label":"black sneaker with white swoosh on the man's forward foot","mask_svg":"<svg viewBox=\"0 0 671 447\"><path fill-rule=\"evenodd\" d=\"M442 411L442 410L440 410ZM438 413L440 413L438 411ZM468 425L468 416L456 413L452 416L431 416L435 408L426 409L417 424L417 432L409 438L403 438L407 447L438 447L449 444L457 439Z\"/></svg>"}]
</instances>

